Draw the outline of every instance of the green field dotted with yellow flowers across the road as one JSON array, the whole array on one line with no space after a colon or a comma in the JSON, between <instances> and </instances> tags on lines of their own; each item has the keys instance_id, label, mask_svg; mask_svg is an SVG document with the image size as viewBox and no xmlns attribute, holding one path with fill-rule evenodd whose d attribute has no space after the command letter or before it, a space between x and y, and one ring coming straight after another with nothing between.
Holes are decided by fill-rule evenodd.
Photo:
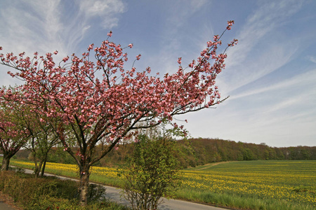
<instances>
[{"instance_id":1,"label":"green field dotted with yellow flowers across the road","mask_svg":"<svg viewBox=\"0 0 316 210\"><path fill-rule=\"evenodd\" d=\"M32 162L11 160L32 169ZM78 177L76 165L47 163L46 172ZM117 169L93 167L91 181L119 186ZM236 209L316 209L316 161L220 162L181 171L174 197Z\"/></svg>"}]
</instances>

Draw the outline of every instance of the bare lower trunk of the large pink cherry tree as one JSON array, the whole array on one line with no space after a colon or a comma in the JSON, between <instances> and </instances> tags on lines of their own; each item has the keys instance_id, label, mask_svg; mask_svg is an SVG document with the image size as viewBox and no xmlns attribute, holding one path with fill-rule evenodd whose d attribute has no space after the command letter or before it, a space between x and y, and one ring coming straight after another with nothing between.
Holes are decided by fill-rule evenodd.
<instances>
[{"instance_id":1,"label":"bare lower trunk of the large pink cherry tree","mask_svg":"<svg viewBox=\"0 0 316 210\"><path fill-rule=\"evenodd\" d=\"M79 202L81 206L88 204L88 188L89 188L89 167L84 166L80 169L80 184L79 184Z\"/></svg>"}]
</instances>

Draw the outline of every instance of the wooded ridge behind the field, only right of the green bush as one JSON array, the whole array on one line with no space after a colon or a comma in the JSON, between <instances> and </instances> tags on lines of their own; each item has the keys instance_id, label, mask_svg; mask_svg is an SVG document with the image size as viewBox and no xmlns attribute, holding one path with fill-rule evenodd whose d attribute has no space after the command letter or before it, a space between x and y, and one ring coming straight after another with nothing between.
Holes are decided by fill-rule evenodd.
<instances>
[{"instance_id":1,"label":"wooded ridge behind the field, only right of the green bush","mask_svg":"<svg viewBox=\"0 0 316 210\"><path fill-rule=\"evenodd\" d=\"M189 139L178 142L183 151L179 160L183 167L209 162L242 160L316 160L316 147L276 148L265 144L249 144L221 139Z\"/></svg>"}]
</instances>

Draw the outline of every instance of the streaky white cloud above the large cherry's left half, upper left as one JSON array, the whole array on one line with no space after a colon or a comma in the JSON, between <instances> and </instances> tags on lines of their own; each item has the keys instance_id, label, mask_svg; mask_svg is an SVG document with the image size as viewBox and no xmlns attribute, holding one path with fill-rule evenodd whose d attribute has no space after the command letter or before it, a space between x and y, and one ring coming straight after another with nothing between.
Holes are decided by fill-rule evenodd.
<instances>
[{"instance_id":1,"label":"streaky white cloud above the large cherry's left half, upper left","mask_svg":"<svg viewBox=\"0 0 316 210\"><path fill-rule=\"evenodd\" d=\"M79 43L88 30L102 27L109 31L117 26L118 15L126 9L124 3L117 0L75 1L72 6L67 3L60 0L1 3L0 45L4 52L24 51L32 56L36 51L44 54L58 50L57 59L62 59L80 50ZM6 72L0 71L0 74ZM12 84L11 78L5 78L1 77L0 84Z\"/></svg>"}]
</instances>

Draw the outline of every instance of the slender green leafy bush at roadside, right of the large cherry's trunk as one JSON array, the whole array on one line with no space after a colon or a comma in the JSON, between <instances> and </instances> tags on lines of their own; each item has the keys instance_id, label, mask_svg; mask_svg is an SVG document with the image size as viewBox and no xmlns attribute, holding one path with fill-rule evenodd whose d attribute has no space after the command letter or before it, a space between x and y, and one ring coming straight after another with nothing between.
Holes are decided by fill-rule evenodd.
<instances>
[{"instance_id":1,"label":"slender green leafy bush at roadside, right of the large cherry's trunk","mask_svg":"<svg viewBox=\"0 0 316 210\"><path fill-rule=\"evenodd\" d=\"M178 186L180 168L174 156L175 142L138 137L135 151L124 174L124 197L133 209L157 209L161 198Z\"/></svg>"}]
</instances>

